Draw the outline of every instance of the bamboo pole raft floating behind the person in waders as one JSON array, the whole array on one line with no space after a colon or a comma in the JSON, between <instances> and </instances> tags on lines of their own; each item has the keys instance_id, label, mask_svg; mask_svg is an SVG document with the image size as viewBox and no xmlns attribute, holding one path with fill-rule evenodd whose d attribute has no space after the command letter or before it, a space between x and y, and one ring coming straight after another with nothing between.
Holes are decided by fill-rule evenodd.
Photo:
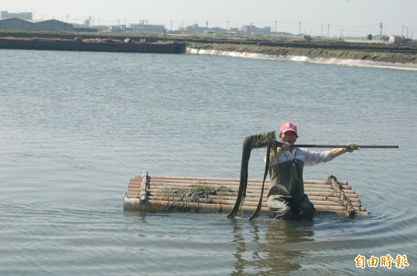
<instances>
[{"instance_id":1,"label":"bamboo pole raft floating behind the person in waders","mask_svg":"<svg viewBox=\"0 0 417 276\"><path fill-rule=\"evenodd\" d=\"M270 181L265 181L261 213L270 213L266 204ZM248 179L243 212L254 213L261 196L262 179ZM238 178L150 176L146 170L129 181L124 192L124 210L188 211L229 213L236 202ZM347 184L329 176L324 181L304 180L304 192L319 214L368 216L358 195Z\"/></svg>"}]
</instances>

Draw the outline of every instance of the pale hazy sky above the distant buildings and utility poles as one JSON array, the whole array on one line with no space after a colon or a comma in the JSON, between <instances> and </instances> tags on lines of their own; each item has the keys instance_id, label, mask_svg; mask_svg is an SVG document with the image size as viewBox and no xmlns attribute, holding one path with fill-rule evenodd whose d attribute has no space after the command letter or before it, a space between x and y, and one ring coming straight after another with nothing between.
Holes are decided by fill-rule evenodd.
<instances>
[{"instance_id":1,"label":"pale hazy sky above the distant buildings and utility poles","mask_svg":"<svg viewBox=\"0 0 417 276\"><path fill-rule=\"evenodd\" d=\"M417 37L417 0L1 0L0 10L34 19L92 25L147 24L209 28L270 26L287 33L331 37L379 34Z\"/></svg>"}]
</instances>

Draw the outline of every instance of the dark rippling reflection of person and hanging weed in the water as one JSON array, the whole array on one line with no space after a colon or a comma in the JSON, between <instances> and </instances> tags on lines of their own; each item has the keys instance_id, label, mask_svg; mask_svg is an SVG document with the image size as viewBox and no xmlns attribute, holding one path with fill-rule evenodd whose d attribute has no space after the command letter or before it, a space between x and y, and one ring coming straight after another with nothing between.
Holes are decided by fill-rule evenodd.
<instances>
[{"instance_id":1,"label":"dark rippling reflection of person and hanging weed in the water","mask_svg":"<svg viewBox=\"0 0 417 276\"><path fill-rule=\"evenodd\" d=\"M236 261L235 270L231 275L283 275L301 268L297 260L300 260L304 253L296 249L291 250L291 243L312 241L313 221L251 221L253 230L250 232L244 232L244 222L233 221ZM259 224L262 224L261 231Z\"/></svg>"}]
</instances>

